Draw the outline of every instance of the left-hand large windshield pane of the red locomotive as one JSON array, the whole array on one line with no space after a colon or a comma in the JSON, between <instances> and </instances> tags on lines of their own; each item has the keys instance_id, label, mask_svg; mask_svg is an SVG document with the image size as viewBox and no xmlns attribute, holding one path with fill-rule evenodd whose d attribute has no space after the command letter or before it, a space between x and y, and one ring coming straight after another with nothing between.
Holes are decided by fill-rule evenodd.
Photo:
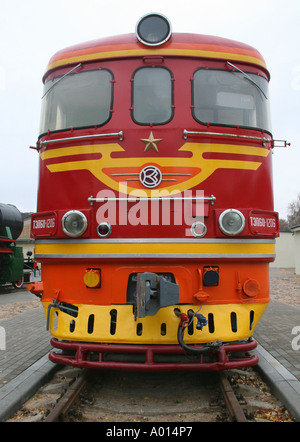
<instances>
[{"instance_id":1,"label":"left-hand large windshield pane of the red locomotive","mask_svg":"<svg viewBox=\"0 0 300 442\"><path fill-rule=\"evenodd\" d=\"M105 124L112 111L112 80L111 72L102 69L47 81L40 134Z\"/></svg>"}]
</instances>

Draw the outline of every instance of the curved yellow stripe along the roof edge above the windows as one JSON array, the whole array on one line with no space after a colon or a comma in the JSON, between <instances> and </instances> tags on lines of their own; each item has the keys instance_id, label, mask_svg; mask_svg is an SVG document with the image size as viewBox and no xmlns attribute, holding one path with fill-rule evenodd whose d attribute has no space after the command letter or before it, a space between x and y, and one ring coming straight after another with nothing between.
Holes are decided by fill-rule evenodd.
<instances>
[{"instance_id":1,"label":"curved yellow stripe along the roof edge above the windows","mask_svg":"<svg viewBox=\"0 0 300 442\"><path fill-rule=\"evenodd\" d=\"M176 55L185 57L205 57L205 58L219 58L219 59L230 59L236 61L244 61L246 63L254 63L259 66L266 68L265 63L259 58L252 57L249 55L235 54L232 52L218 52L218 51L205 51L205 50L193 50L193 49L155 49L155 50L145 50L145 49L128 49L121 51L112 52L95 52L93 54L82 54L74 57L63 58L57 60L48 65L47 70L57 68L66 64L79 63L84 61L114 58L114 57L136 57L142 55Z\"/></svg>"}]
</instances>

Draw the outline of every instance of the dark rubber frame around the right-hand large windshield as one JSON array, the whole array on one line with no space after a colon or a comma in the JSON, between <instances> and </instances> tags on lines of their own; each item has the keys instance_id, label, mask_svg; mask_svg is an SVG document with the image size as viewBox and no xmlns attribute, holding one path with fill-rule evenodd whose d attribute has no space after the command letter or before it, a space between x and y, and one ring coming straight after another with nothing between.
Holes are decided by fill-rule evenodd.
<instances>
[{"instance_id":1,"label":"dark rubber frame around the right-hand large windshield","mask_svg":"<svg viewBox=\"0 0 300 442\"><path fill-rule=\"evenodd\" d=\"M207 67L198 67L197 69L194 70L193 76L192 76L192 80L191 80L191 111L192 111L192 116L193 116L194 120L197 123L202 124L203 126L209 125L209 126L219 126L219 127L228 127L228 128L251 129L251 130L264 131L266 133L271 134L271 127L266 128L266 127L247 126L247 125L234 124L234 123L232 123L232 124L215 123L215 122L212 122L212 121L202 121L202 120L198 119L197 116L195 115L195 101L194 101L194 97L195 97L195 79L194 79L194 76L195 76L196 72L202 71L202 70L203 71L231 72L232 75L234 75L234 73L235 73L235 71L228 71L228 69L222 69L222 68L217 68L217 67L209 67L209 68L207 68ZM252 75L257 75L257 77L264 78L265 81L267 82L267 84L269 84L268 79L264 75L262 75L262 74L259 74L257 72L253 72L253 71L246 71L246 70L245 70L245 73L248 74L248 75L252 74ZM253 85L253 87L255 87L255 85ZM268 92L269 91L267 90L267 95L268 95L268 100L269 100ZM266 99L266 98L264 98L264 99ZM267 111L267 117L268 117L267 118L267 125L271 126L271 116L270 116L270 104L269 104L269 101L266 104L266 111Z\"/></svg>"}]
</instances>

